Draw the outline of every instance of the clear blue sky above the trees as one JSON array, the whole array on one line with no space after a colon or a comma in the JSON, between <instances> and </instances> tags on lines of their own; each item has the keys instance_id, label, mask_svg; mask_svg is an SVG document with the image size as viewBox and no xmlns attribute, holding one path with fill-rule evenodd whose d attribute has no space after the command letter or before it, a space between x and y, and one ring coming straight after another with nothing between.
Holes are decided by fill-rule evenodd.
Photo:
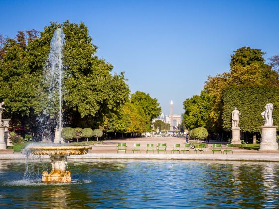
<instances>
[{"instance_id":1,"label":"clear blue sky above the trees","mask_svg":"<svg viewBox=\"0 0 279 209\"><path fill-rule=\"evenodd\" d=\"M279 0L0 0L0 33L84 22L97 55L125 71L132 93L183 112L208 75L229 71L234 50L279 54Z\"/></svg>"}]
</instances>

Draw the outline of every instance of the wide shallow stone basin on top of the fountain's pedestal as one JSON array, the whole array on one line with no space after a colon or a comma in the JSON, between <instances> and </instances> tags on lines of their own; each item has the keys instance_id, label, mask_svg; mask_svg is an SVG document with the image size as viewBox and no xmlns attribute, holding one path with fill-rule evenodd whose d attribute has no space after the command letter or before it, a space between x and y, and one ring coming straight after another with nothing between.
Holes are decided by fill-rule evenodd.
<instances>
[{"instance_id":1,"label":"wide shallow stone basin on top of the fountain's pedestal","mask_svg":"<svg viewBox=\"0 0 279 209\"><path fill-rule=\"evenodd\" d=\"M91 146L33 146L29 150L34 155L84 155Z\"/></svg>"}]
</instances>

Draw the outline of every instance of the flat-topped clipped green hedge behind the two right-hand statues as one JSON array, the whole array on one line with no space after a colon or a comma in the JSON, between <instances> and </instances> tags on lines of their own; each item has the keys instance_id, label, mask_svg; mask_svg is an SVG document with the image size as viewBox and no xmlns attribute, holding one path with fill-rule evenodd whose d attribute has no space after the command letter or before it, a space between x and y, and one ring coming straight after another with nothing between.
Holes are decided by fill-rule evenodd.
<instances>
[{"instance_id":1,"label":"flat-topped clipped green hedge behind the two right-hand statues","mask_svg":"<svg viewBox=\"0 0 279 209\"><path fill-rule=\"evenodd\" d=\"M274 104L274 124L279 124L279 87L238 86L224 89L223 97L223 128L231 129L231 115L234 107L241 112L239 127L245 132L260 132L264 125L261 113L268 103Z\"/></svg>"}]
</instances>

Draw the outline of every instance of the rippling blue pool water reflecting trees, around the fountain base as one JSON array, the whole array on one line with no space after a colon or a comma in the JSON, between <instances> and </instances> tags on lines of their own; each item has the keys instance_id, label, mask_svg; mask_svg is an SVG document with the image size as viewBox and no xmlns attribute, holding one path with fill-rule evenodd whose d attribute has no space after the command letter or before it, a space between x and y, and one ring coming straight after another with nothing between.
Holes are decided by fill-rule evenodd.
<instances>
[{"instance_id":1,"label":"rippling blue pool water reflecting trees, around the fountain base","mask_svg":"<svg viewBox=\"0 0 279 209\"><path fill-rule=\"evenodd\" d=\"M279 208L279 164L69 161L71 184L40 182L48 161L0 161L1 208Z\"/></svg>"}]
</instances>

